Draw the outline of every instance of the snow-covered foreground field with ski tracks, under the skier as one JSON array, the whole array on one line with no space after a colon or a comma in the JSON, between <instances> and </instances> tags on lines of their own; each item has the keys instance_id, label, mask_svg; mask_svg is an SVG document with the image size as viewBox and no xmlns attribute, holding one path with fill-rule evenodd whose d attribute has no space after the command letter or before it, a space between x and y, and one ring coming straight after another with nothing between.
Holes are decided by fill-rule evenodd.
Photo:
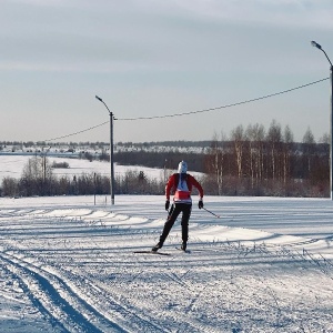
<instances>
[{"instance_id":1,"label":"snow-covered foreground field with ski tracks, under the skier","mask_svg":"<svg viewBox=\"0 0 333 333\"><path fill-rule=\"evenodd\" d=\"M331 200L193 199L170 255L162 195L0 199L0 331L333 332Z\"/></svg>"}]
</instances>

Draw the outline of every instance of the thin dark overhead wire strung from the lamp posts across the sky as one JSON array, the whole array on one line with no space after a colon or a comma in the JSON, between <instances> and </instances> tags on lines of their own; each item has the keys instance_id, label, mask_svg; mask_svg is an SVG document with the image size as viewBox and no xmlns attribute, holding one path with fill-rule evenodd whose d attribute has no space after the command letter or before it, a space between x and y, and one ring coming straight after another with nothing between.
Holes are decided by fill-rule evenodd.
<instances>
[{"instance_id":1,"label":"thin dark overhead wire strung from the lamp posts across the sky","mask_svg":"<svg viewBox=\"0 0 333 333\"><path fill-rule=\"evenodd\" d=\"M312 84L316 84L316 83L323 82L323 81L329 80L329 79L330 78L324 78L324 79L321 79L321 80L317 80L317 81L313 81L313 82L310 82L310 83L306 83L306 84L302 84L302 85L299 85L299 87L295 87L295 88L291 88L291 89L279 91L279 92L274 92L274 93L270 93L270 94L266 94L266 95L263 95L263 97L260 97L260 98L254 98L254 99L251 99L251 100L245 100L245 101L241 101L241 102L236 102L236 103L231 103L231 104L225 104L225 105L215 107L215 108L210 108L210 109L203 109L203 110L196 110L196 111L190 111L190 112L181 112L181 113L173 113L173 114L165 114L165 115L138 117L138 118L117 118L114 120L123 120L123 121L152 120L152 119L174 118L174 117L190 115L190 114L195 114L195 113L210 112L210 111L215 111L215 110L232 108L232 107L236 107L236 105L241 105L241 104L246 104L246 103L251 103L251 102L264 100L264 99L268 99L268 98L271 98L271 97L274 97L274 95L287 93L287 92L291 92L291 91L294 91L294 90L299 90L299 89L302 89L302 88L305 88L305 87L309 87L309 85L312 85ZM109 121L104 121L104 122L102 122L100 124L97 124L97 125L91 127L89 129L84 129L84 130L81 130L81 131L78 131L78 132L74 132L74 133L71 133L71 134L67 134L67 135L62 135L62 137L58 137L58 138L52 138L52 139L48 139L48 140L43 140L43 141L48 142L48 141L54 141L54 140L59 140L59 139L64 139L64 138L73 137L73 135L77 135L77 134L80 134L80 133L88 132L90 130L97 129L97 128L102 127L102 125L104 125L107 123L109 123Z\"/></svg>"}]
</instances>

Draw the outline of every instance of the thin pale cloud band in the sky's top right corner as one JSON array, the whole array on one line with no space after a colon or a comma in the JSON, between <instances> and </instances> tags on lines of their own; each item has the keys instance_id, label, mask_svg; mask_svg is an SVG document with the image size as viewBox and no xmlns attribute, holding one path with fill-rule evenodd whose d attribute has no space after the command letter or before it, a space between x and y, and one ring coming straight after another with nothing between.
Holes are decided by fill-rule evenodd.
<instances>
[{"instance_id":1,"label":"thin pale cloud band in the sky's top right corner","mask_svg":"<svg viewBox=\"0 0 333 333\"><path fill-rule=\"evenodd\" d=\"M153 1L149 2L152 4ZM173 0L168 1L168 6L163 6L162 10L170 10L173 7L179 8L183 14L191 12L201 20L242 26L251 23L325 29L333 27L331 0Z\"/></svg>"}]
</instances>

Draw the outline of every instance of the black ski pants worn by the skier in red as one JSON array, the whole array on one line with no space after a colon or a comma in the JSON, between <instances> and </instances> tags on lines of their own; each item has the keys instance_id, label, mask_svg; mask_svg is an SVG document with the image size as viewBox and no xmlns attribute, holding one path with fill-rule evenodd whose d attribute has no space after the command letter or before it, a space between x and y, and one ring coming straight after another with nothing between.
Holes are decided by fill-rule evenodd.
<instances>
[{"instance_id":1,"label":"black ski pants worn by the skier in red","mask_svg":"<svg viewBox=\"0 0 333 333\"><path fill-rule=\"evenodd\" d=\"M160 244L163 245L165 239L169 235L171 228L173 226L176 218L182 213L182 241L188 242L189 239L189 220L191 216L192 203L173 203L168 220L164 224L163 232L160 236Z\"/></svg>"}]
</instances>

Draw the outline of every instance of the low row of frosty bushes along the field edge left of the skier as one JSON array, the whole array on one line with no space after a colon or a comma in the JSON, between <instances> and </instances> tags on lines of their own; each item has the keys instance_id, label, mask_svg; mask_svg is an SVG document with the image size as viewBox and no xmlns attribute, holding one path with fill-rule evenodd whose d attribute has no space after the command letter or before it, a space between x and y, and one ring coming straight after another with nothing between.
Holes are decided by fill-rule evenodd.
<instances>
[{"instance_id":1,"label":"low row of frosty bushes along the field edge left of the skier","mask_svg":"<svg viewBox=\"0 0 333 333\"><path fill-rule=\"evenodd\" d=\"M68 168L67 163L50 163L49 158L30 158L21 178L6 176L0 186L2 196L33 195L87 195L109 194L110 176L97 172L78 175L56 175L54 168ZM149 178L143 171L127 171L115 175L117 194L161 194L164 180Z\"/></svg>"}]
</instances>

